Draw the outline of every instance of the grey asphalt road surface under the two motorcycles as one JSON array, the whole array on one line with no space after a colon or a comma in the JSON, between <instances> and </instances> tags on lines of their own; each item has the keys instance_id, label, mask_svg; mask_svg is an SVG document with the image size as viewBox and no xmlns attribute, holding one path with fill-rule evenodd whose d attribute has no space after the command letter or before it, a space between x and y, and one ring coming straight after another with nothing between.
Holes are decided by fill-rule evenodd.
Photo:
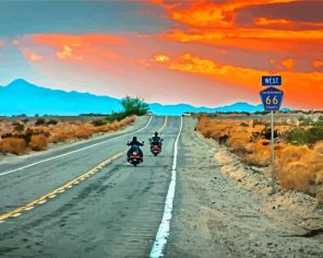
<instances>
[{"instance_id":1,"label":"grey asphalt road surface under the two motorcycles","mask_svg":"<svg viewBox=\"0 0 323 258\"><path fill-rule=\"evenodd\" d=\"M124 152L132 133L1 163L0 257L148 257L163 218L180 129L180 117L168 117L163 127L165 119L153 117L135 133L146 143L144 163L137 167L125 162L125 154L116 156ZM164 149L155 157L148 138L160 128ZM92 144L97 145L88 148Z\"/></svg>"}]
</instances>

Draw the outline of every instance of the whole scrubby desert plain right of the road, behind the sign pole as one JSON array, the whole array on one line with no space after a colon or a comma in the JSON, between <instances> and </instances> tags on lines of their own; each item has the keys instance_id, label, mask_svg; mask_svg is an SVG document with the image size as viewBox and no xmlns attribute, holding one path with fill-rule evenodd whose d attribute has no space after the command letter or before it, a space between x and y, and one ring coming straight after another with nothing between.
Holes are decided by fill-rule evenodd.
<instances>
[{"instance_id":1,"label":"whole scrubby desert plain right of the road, behind the sign pole","mask_svg":"<svg viewBox=\"0 0 323 258\"><path fill-rule=\"evenodd\" d=\"M234 118L234 119L232 119ZM275 171L283 189L295 189L323 202L323 115L288 116L275 120ZM264 116L199 117L196 130L227 145L242 161L270 177L271 128Z\"/></svg>"}]
</instances>

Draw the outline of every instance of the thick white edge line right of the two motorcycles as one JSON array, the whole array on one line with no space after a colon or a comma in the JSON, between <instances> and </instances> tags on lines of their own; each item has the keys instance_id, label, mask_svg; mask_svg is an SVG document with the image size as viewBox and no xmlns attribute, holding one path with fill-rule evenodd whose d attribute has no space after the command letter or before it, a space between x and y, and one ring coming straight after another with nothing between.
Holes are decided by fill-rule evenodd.
<instances>
[{"instance_id":1,"label":"thick white edge line right of the two motorcycles","mask_svg":"<svg viewBox=\"0 0 323 258\"><path fill-rule=\"evenodd\" d=\"M174 161L172 161L172 168L171 168L171 180L169 183L169 188L165 201L164 214L162 222L159 224L159 228L151 250L151 258L158 258L163 257L163 250L167 243L167 238L169 236L169 227L170 227L170 220L171 220L171 212L172 212L172 201L175 196L175 187L176 187L176 165L177 165L177 153L178 153L178 141L182 130L183 118L181 117L180 120L180 129L177 134L175 141L175 150L174 150Z\"/></svg>"}]
</instances>

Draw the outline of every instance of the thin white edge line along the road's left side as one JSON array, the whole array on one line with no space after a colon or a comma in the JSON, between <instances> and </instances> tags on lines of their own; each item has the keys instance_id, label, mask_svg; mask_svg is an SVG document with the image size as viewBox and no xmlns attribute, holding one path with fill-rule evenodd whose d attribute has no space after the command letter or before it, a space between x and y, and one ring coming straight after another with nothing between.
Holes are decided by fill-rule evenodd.
<instances>
[{"instance_id":1,"label":"thin white edge line along the road's left side","mask_svg":"<svg viewBox=\"0 0 323 258\"><path fill-rule=\"evenodd\" d=\"M136 132L140 132L141 130L144 130L146 129L149 125L151 125L151 121L153 119L153 116L151 116L147 125L145 125L143 128L136 130L136 131L133 131L133 132L129 132L129 133L125 133L125 134L122 134L122 136L119 136L119 137L115 137L115 138L111 138L111 139L108 139L108 140L105 140L105 141L101 141L101 142L98 142L98 143L94 143L92 145L88 145L88 146L84 146L84 148L81 148L81 149L77 149L75 151L71 151L71 152L67 152L64 154L60 154L60 155L57 155L57 156L52 156L52 157L48 157L48 159L45 159L43 161L38 161L38 162L35 162L35 163L32 163L32 164L28 164L26 166L22 166L22 167L19 167L19 168L14 168L12 171L8 171L8 172L3 172L3 173L0 173L0 176L4 176L4 175L8 175L8 174L11 174L11 173L14 173L14 172L17 172L17 171L22 171L22 169L25 169L25 168L28 168L31 166L35 166L35 165L38 165L38 164L41 164L41 163L45 163L45 162L49 162L49 161L52 161L52 160L57 160L59 157L62 157L62 156L68 156L68 155L71 155L73 153L76 153L76 152L81 152L81 151L84 151L84 150L87 150L87 149L91 149L93 146L97 146L97 145L100 145L100 144L104 144L108 141L112 141L112 140L116 140L116 139L120 139L122 137L128 137L130 134L133 134L133 133L136 133Z\"/></svg>"}]
</instances>

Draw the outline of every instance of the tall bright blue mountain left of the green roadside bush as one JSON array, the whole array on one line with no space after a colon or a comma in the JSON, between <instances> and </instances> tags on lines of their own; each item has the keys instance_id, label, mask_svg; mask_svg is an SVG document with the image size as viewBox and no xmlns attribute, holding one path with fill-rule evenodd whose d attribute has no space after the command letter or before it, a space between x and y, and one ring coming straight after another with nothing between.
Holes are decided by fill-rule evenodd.
<instances>
[{"instance_id":1,"label":"tall bright blue mountain left of the green roadside bush","mask_svg":"<svg viewBox=\"0 0 323 258\"><path fill-rule=\"evenodd\" d=\"M0 99L2 116L108 114L122 108L120 101L113 97L51 90L21 79L0 86Z\"/></svg>"}]
</instances>

